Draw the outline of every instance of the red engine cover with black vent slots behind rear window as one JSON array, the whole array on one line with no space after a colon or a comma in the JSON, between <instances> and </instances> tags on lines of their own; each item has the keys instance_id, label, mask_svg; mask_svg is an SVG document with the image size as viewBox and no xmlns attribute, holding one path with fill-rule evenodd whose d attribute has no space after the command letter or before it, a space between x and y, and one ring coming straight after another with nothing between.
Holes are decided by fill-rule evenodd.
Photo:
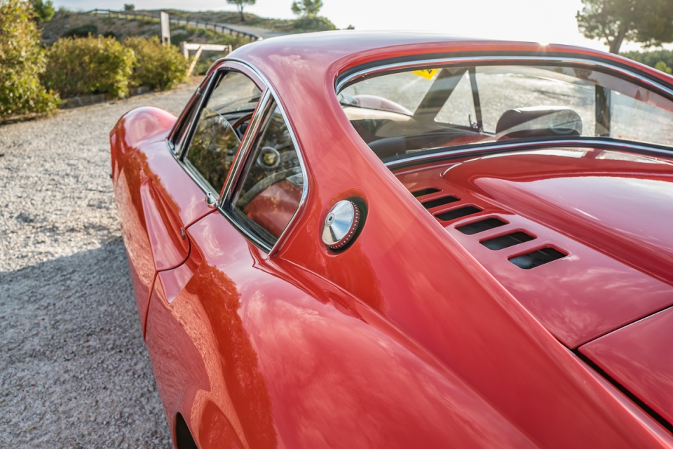
<instances>
[{"instance_id":1,"label":"red engine cover with black vent slots behind rear window","mask_svg":"<svg viewBox=\"0 0 673 449\"><path fill-rule=\"evenodd\" d=\"M673 197L670 161L552 148L395 174L410 190L440 189L421 203L447 194L460 200L430 213L481 208L451 222L437 220L569 348L673 304L673 209L661 208ZM508 225L473 235L456 229L484 217ZM535 239L497 251L480 244L517 231ZM569 255L531 270L508 262L543 246Z\"/></svg>"}]
</instances>

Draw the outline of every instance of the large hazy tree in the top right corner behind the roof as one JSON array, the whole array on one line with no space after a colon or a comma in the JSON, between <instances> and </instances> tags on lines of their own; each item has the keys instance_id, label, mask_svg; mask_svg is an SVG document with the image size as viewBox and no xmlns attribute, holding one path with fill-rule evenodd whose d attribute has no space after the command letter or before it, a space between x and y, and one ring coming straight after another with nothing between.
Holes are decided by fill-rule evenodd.
<instances>
[{"instance_id":1,"label":"large hazy tree in the top right corner behind the roof","mask_svg":"<svg viewBox=\"0 0 673 449\"><path fill-rule=\"evenodd\" d=\"M580 32L589 39L604 39L610 53L623 41L661 46L673 42L671 0L582 0L577 12Z\"/></svg>"}]
</instances>

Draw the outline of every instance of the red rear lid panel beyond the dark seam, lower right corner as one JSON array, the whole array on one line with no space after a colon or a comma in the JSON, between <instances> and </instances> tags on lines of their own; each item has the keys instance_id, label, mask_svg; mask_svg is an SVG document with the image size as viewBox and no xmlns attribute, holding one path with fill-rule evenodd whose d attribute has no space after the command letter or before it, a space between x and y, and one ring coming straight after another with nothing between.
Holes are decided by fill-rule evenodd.
<instances>
[{"instance_id":1,"label":"red rear lid panel beyond the dark seam, lower right corner","mask_svg":"<svg viewBox=\"0 0 673 449\"><path fill-rule=\"evenodd\" d=\"M580 347L613 379L673 422L673 309Z\"/></svg>"}]
</instances>

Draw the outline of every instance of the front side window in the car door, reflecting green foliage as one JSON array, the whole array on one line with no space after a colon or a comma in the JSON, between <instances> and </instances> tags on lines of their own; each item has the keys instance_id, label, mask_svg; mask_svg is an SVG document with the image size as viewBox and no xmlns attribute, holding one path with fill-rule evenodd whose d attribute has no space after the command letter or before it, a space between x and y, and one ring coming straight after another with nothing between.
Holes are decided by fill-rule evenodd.
<instances>
[{"instance_id":1,"label":"front side window in the car door, reflecting green foliage","mask_svg":"<svg viewBox=\"0 0 673 449\"><path fill-rule=\"evenodd\" d=\"M261 91L240 72L216 76L219 79L200 111L184 161L219 194Z\"/></svg>"}]
</instances>

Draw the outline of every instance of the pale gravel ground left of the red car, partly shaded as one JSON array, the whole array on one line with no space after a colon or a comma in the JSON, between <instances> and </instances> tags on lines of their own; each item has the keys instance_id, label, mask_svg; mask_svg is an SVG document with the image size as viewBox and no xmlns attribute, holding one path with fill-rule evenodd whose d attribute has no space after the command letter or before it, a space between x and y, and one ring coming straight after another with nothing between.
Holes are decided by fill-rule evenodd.
<instances>
[{"instance_id":1,"label":"pale gravel ground left of the red car, partly shaded","mask_svg":"<svg viewBox=\"0 0 673 449\"><path fill-rule=\"evenodd\" d=\"M168 448L111 186L109 130L196 84L0 126L0 448Z\"/></svg>"}]
</instances>

